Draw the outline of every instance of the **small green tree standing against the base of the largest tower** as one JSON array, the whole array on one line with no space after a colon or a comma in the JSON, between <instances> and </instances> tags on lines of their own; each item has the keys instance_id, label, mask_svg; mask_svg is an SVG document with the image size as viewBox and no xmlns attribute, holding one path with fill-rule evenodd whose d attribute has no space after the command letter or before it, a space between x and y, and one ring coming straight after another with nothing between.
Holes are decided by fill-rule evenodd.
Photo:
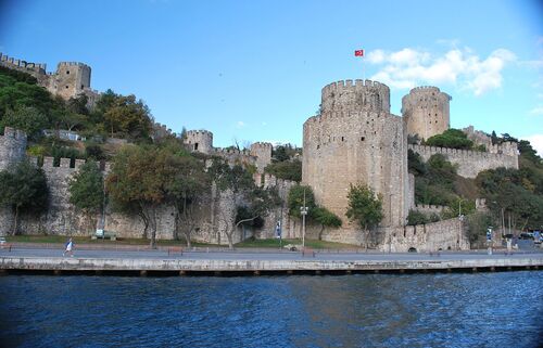
<instances>
[{"instance_id":1,"label":"small green tree standing against the base of the largest tower","mask_svg":"<svg viewBox=\"0 0 543 348\"><path fill-rule=\"evenodd\" d=\"M346 217L351 221L358 222L364 231L376 228L381 222L382 198L371 188L365 184L351 184L346 197L349 199Z\"/></svg>"}]
</instances>

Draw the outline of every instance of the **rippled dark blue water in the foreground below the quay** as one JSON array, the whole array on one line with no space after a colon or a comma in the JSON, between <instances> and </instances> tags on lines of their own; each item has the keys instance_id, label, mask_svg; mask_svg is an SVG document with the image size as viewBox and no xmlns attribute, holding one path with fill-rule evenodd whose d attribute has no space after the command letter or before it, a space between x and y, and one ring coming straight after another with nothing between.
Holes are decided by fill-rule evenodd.
<instances>
[{"instance_id":1,"label":"rippled dark blue water in the foreground below the quay","mask_svg":"<svg viewBox=\"0 0 543 348\"><path fill-rule=\"evenodd\" d=\"M538 347L543 272L0 278L2 347Z\"/></svg>"}]
</instances>

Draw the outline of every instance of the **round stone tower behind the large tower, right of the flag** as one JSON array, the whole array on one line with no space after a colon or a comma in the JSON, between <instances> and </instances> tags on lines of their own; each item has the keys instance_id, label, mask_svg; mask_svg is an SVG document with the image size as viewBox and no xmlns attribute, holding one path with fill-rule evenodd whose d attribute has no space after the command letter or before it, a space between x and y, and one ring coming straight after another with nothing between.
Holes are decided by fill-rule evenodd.
<instances>
[{"instance_id":1,"label":"round stone tower behind the large tower, right of the flag","mask_svg":"<svg viewBox=\"0 0 543 348\"><path fill-rule=\"evenodd\" d=\"M408 134L422 139L441 134L450 127L451 96L437 87L417 87L402 98L402 115Z\"/></svg>"}]
</instances>

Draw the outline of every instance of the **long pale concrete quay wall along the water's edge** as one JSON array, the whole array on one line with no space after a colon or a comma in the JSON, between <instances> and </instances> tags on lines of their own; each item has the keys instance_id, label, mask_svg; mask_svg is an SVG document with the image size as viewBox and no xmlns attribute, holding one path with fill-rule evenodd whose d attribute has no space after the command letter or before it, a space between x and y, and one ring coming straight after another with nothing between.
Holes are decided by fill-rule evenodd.
<instances>
[{"instance_id":1,"label":"long pale concrete quay wall along the water's edge","mask_svg":"<svg viewBox=\"0 0 543 348\"><path fill-rule=\"evenodd\" d=\"M432 258L424 260L197 260L197 259L129 259L129 258L51 258L51 257L2 257L0 270L60 272L364 272L364 271L440 271L440 270L512 270L541 269L543 257L482 258L454 260Z\"/></svg>"}]
</instances>

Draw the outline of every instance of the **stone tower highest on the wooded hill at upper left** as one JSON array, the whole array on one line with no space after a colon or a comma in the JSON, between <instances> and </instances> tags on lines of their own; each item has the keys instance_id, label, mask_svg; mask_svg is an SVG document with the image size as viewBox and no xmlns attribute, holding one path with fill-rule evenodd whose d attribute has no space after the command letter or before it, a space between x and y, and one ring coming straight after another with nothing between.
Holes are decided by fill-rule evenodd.
<instances>
[{"instance_id":1,"label":"stone tower highest on the wooded hill at upper left","mask_svg":"<svg viewBox=\"0 0 543 348\"><path fill-rule=\"evenodd\" d=\"M61 62L50 80L49 91L70 99L90 89L90 66L76 62Z\"/></svg>"}]
</instances>

